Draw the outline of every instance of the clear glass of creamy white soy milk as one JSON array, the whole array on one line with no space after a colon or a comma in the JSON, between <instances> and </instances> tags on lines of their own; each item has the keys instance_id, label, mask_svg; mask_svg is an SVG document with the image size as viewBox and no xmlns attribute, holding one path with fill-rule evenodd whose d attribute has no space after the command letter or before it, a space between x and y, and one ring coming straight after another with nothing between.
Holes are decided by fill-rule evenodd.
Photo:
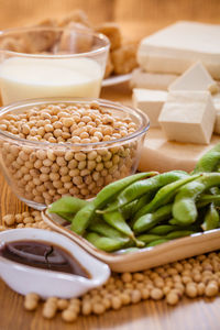
<instances>
[{"instance_id":1,"label":"clear glass of creamy white soy milk","mask_svg":"<svg viewBox=\"0 0 220 330\"><path fill-rule=\"evenodd\" d=\"M109 40L88 28L21 28L0 32L3 105L43 97L98 98Z\"/></svg>"}]
</instances>

